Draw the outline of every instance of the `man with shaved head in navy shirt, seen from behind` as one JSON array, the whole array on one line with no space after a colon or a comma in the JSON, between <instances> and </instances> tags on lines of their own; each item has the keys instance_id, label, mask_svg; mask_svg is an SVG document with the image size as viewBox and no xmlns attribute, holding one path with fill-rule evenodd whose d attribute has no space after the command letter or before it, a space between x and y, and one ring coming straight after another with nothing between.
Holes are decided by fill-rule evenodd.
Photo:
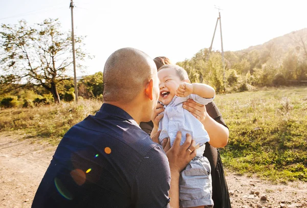
<instances>
[{"instance_id":1,"label":"man with shaved head in navy shirt, seen from behind","mask_svg":"<svg viewBox=\"0 0 307 208\"><path fill-rule=\"evenodd\" d=\"M196 155L195 143L188 135L180 146L179 132L166 156L139 127L156 109L155 63L120 49L107 59L103 79L103 105L64 135L32 207L169 207L169 198L177 207L179 173Z\"/></svg>"}]
</instances>

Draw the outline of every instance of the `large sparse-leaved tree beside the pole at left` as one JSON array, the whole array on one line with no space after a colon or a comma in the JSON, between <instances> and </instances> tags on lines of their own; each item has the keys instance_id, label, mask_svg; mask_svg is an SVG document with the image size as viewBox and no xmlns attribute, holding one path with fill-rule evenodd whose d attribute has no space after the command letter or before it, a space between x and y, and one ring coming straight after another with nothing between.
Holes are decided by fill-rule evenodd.
<instances>
[{"instance_id":1,"label":"large sparse-leaved tree beside the pole at left","mask_svg":"<svg viewBox=\"0 0 307 208\"><path fill-rule=\"evenodd\" d=\"M2 25L0 67L5 83L42 86L60 103L57 85L70 79L67 71L73 64L71 35L59 31L60 26L58 19L46 19L33 27L25 20L14 26ZM82 40L75 37L76 60L86 56L81 50Z\"/></svg>"}]
</instances>

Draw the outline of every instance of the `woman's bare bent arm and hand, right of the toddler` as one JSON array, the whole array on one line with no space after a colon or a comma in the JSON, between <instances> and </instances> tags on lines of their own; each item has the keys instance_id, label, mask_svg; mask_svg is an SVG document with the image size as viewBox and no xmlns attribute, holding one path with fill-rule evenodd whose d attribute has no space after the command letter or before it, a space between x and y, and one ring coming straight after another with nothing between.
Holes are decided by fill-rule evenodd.
<instances>
[{"instance_id":1,"label":"woman's bare bent arm and hand, right of the toddler","mask_svg":"<svg viewBox=\"0 0 307 208\"><path fill-rule=\"evenodd\" d=\"M210 145L216 148L227 145L229 137L228 128L211 118L204 105L189 99L183 103L183 108L187 109L196 119L202 122L210 136Z\"/></svg>"}]
</instances>

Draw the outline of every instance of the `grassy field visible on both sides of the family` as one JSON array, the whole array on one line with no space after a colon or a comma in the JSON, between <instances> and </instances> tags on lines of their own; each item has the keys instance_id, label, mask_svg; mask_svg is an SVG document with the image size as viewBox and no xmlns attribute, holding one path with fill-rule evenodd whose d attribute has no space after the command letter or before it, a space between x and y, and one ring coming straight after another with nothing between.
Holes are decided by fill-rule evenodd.
<instances>
[{"instance_id":1,"label":"grassy field visible on both sides of the family","mask_svg":"<svg viewBox=\"0 0 307 208\"><path fill-rule=\"evenodd\" d=\"M224 166L274 181L307 181L307 88L217 95L230 129ZM1 131L23 130L57 145L64 133L99 110L99 101L0 110Z\"/></svg>"}]
</instances>

